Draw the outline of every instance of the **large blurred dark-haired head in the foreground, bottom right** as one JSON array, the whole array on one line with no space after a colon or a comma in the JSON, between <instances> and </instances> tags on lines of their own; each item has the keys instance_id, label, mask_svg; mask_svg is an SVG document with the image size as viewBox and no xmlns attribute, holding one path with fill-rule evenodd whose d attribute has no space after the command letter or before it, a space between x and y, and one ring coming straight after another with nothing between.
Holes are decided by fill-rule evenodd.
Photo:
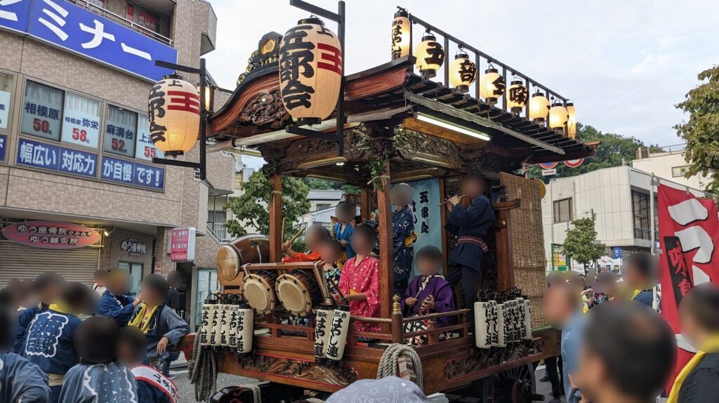
<instances>
[{"instance_id":1,"label":"large blurred dark-haired head in the foreground, bottom right","mask_svg":"<svg viewBox=\"0 0 719 403\"><path fill-rule=\"evenodd\" d=\"M594 401L608 391L638 402L656 397L677 355L667 321L646 305L627 302L592 308L587 320L574 376L582 394Z\"/></svg>"}]
</instances>

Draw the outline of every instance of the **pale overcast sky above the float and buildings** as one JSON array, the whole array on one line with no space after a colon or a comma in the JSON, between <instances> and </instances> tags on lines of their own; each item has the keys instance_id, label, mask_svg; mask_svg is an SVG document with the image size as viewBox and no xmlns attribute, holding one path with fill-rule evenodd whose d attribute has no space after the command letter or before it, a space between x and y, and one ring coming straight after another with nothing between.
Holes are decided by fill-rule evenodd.
<instances>
[{"instance_id":1,"label":"pale overcast sky above the float and buildings","mask_svg":"<svg viewBox=\"0 0 719 403\"><path fill-rule=\"evenodd\" d=\"M336 1L311 2L336 10ZM307 16L288 0L211 4L217 48L206 58L229 89L262 34ZM661 146L682 142L674 104L719 63L719 1L347 0L347 74L390 60L398 5L572 98L582 123Z\"/></svg>"}]
</instances>

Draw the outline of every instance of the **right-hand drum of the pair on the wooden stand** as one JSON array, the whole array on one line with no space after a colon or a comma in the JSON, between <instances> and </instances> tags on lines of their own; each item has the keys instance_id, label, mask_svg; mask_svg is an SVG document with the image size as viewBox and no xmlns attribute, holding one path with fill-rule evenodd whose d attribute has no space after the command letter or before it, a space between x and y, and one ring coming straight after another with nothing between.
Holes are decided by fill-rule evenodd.
<instances>
[{"instance_id":1,"label":"right-hand drum of the pair on the wooden stand","mask_svg":"<svg viewBox=\"0 0 719 403\"><path fill-rule=\"evenodd\" d=\"M322 302L322 292L313 272L294 269L280 274L275 283L283 307L296 316L306 316Z\"/></svg>"}]
</instances>

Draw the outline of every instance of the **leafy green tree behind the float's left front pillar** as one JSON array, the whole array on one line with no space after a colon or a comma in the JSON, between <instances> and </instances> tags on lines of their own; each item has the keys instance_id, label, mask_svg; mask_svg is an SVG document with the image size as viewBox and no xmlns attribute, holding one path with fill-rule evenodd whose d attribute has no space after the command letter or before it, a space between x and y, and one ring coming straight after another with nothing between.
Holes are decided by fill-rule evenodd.
<instances>
[{"instance_id":1,"label":"leafy green tree behind the float's left front pillar","mask_svg":"<svg viewBox=\"0 0 719 403\"><path fill-rule=\"evenodd\" d=\"M238 219L227 220L225 228L232 236L243 236L247 231L242 225L249 223L260 233L270 233L270 212L267 208L272 201L272 185L268 180L267 165L253 173L247 182L242 184L244 191L239 198L234 198L225 206L232 210ZM289 238L293 233L292 223L303 214L309 213L310 202L307 200L309 188L301 179L282 177L282 217L285 219L285 234Z\"/></svg>"}]
</instances>

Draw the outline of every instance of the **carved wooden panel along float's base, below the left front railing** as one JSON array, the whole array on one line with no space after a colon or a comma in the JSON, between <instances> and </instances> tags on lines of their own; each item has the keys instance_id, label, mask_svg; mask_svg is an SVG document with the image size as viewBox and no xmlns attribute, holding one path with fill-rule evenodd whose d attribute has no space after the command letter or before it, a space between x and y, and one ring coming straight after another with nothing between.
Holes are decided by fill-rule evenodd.
<instances>
[{"instance_id":1,"label":"carved wooden panel along float's base, below the left front railing","mask_svg":"<svg viewBox=\"0 0 719 403\"><path fill-rule=\"evenodd\" d=\"M249 371L334 386L347 386L357 381L357 372L346 366L320 366L310 361L269 356L239 358L239 364Z\"/></svg>"}]
</instances>

